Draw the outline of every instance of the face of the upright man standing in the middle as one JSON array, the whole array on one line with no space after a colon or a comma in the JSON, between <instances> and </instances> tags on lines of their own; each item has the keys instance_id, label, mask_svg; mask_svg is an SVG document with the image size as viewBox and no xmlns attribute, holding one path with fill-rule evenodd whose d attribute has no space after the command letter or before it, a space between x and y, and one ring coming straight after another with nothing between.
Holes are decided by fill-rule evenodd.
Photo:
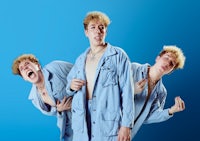
<instances>
[{"instance_id":1,"label":"face of the upright man standing in the middle","mask_svg":"<svg viewBox=\"0 0 200 141\"><path fill-rule=\"evenodd\" d=\"M105 44L107 28L101 22L92 20L85 30L85 35L88 37L91 46L102 46Z\"/></svg>"}]
</instances>

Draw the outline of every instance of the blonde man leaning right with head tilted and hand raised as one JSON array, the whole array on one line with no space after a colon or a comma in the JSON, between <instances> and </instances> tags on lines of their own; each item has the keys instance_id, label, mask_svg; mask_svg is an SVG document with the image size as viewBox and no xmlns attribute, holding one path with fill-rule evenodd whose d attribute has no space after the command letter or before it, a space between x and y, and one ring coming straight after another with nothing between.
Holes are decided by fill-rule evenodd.
<instances>
[{"instance_id":1,"label":"blonde man leaning right with head tilted and hand raised","mask_svg":"<svg viewBox=\"0 0 200 141\"><path fill-rule=\"evenodd\" d=\"M180 96L175 97L175 104L171 108L164 109L167 91L162 83L164 75L182 69L184 64L185 56L182 50L176 46L164 46L153 66L148 63L132 63L135 81L135 119L132 138L143 123L166 121L174 113L185 109L184 101Z\"/></svg>"}]
</instances>

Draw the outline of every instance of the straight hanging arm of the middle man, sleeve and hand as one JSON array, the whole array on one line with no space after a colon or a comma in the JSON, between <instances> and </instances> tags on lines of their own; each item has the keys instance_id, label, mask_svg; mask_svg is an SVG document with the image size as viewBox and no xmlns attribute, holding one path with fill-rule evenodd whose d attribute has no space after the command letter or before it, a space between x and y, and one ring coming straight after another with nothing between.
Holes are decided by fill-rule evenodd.
<instances>
[{"instance_id":1,"label":"straight hanging arm of the middle man, sleeve and hand","mask_svg":"<svg viewBox=\"0 0 200 141\"><path fill-rule=\"evenodd\" d=\"M133 126L134 119L134 85L131 63L126 55L122 56L118 68L119 83L122 91L122 122L119 129L118 141L123 141L130 139L130 128Z\"/></svg>"}]
</instances>

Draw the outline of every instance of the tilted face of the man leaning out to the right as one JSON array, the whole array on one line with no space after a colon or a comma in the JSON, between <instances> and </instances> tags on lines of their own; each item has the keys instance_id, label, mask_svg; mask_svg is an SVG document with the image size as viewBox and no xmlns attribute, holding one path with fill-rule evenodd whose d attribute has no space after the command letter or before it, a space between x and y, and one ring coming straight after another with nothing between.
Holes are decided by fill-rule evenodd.
<instances>
[{"instance_id":1,"label":"tilted face of the man leaning out to the right","mask_svg":"<svg viewBox=\"0 0 200 141\"><path fill-rule=\"evenodd\" d=\"M168 74L176 66L176 57L173 53L167 52L156 58L156 64L160 73Z\"/></svg>"}]
</instances>

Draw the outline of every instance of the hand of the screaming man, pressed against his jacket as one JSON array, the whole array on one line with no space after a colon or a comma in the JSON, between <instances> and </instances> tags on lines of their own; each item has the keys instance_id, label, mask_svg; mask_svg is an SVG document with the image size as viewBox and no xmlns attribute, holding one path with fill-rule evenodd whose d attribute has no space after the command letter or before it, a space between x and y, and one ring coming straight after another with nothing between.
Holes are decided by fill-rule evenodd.
<instances>
[{"instance_id":1,"label":"hand of the screaming man, pressed against his jacket","mask_svg":"<svg viewBox=\"0 0 200 141\"><path fill-rule=\"evenodd\" d=\"M63 98L62 102L59 100L56 103L57 111L62 112L65 110L69 110L71 108L72 97L67 98L66 96Z\"/></svg>"}]
</instances>

